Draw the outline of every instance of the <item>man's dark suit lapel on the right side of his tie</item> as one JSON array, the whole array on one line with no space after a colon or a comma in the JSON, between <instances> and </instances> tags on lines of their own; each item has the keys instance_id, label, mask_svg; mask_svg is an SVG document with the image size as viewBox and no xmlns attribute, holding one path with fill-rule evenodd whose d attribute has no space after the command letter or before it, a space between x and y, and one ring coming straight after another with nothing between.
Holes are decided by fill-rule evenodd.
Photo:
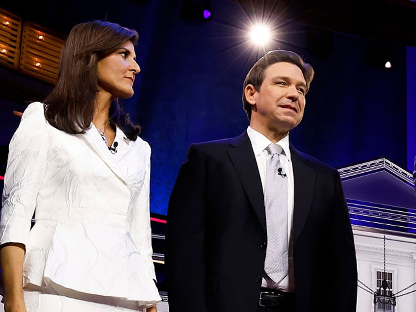
<instances>
[{"instance_id":1,"label":"man's dark suit lapel on the right side of his tie","mask_svg":"<svg viewBox=\"0 0 416 312\"><path fill-rule=\"evenodd\" d=\"M316 172L309 167L302 156L290 145L294 178L293 242L302 232L313 200Z\"/></svg>"}]
</instances>

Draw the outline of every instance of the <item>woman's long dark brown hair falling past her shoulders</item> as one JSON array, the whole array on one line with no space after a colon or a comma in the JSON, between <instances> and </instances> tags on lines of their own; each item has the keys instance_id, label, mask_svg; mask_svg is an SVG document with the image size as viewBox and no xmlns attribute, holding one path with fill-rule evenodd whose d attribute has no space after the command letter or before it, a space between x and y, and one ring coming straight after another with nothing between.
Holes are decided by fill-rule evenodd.
<instances>
[{"instance_id":1,"label":"woman's long dark brown hair falling past her shoulders","mask_svg":"<svg viewBox=\"0 0 416 312\"><path fill-rule=\"evenodd\" d=\"M90 128L98 92L98 61L126 41L135 45L138 37L136 30L106 21L74 26L62 47L55 87L43 101L48 122L71 134ZM118 99L111 104L109 118L114 130L118 126L130 140L136 140L141 127L130 121Z\"/></svg>"}]
</instances>

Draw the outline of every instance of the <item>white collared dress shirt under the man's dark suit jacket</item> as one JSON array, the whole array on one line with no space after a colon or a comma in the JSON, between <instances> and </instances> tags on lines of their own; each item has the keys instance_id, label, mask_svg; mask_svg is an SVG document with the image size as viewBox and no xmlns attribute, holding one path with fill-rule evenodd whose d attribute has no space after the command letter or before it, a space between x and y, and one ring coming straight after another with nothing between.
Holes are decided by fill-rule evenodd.
<instances>
[{"instance_id":1,"label":"white collared dress shirt under the man's dark suit jacket","mask_svg":"<svg viewBox=\"0 0 416 312\"><path fill-rule=\"evenodd\" d=\"M251 146L253 148L254 155L256 156L257 167L259 168L261 185L263 187L263 194L264 194L264 187L265 187L265 178L266 178L266 161L269 157L266 147L269 146L271 142L267 137L265 137L260 132L254 130L250 126L247 128L247 134L251 141ZM282 164L284 172L287 175L287 229L289 231L287 237L289 239L290 244L290 234L292 232L292 225L293 225L293 197L294 197L294 182L293 182L293 167L292 161L290 158L290 150L289 150L289 135L286 135L283 139L281 139L276 144L279 144L282 148L284 153L280 156L280 162ZM264 198L265 200L265 198ZM266 220L267 223L267 220ZM293 268L293 254L289 253L289 272ZM289 273L290 274L290 273ZM265 273L264 273L265 275ZM290 283L293 284L293 283ZM267 288L275 288L280 289L283 291L292 291L293 286L289 286L289 275L287 275L281 282L275 283L271 279L269 279L266 275L263 277L261 282L262 287Z\"/></svg>"}]
</instances>

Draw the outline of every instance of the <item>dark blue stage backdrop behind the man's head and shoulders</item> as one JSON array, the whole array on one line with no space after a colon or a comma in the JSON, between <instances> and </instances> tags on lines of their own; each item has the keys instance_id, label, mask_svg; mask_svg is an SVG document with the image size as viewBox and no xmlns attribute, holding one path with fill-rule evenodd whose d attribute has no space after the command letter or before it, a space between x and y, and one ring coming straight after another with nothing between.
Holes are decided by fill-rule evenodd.
<instances>
[{"instance_id":1,"label":"dark blue stage backdrop behind the man's head and shoulders","mask_svg":"<svg viewBox=\"0 0 416 312\"><path fill-rule=\"evenodd\" d=\"M160 12L164 23L153 29L133 106L153 148L151 204L160 214L189 144L235 136L248 126L242 83L262 53L238 30L241 8L223 3L212 1L210 22L180 20L179 7L172 7ZM311 31L286 25L285 42L270 47L299 52L315 68L304 120L290 133L295 147L335 168L377 157L405 168L405 48L392 46L394 66L385 70L365 62L367 40L334 34L332 45L314 50L306 44Z\"/></svg>"}]
</instances>

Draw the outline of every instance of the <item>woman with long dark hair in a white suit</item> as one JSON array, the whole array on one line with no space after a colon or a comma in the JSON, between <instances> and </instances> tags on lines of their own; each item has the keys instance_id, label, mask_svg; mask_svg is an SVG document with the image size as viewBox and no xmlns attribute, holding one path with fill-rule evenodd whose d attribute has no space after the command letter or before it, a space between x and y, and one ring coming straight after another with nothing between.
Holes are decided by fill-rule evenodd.
<instances>
[{"instance_id":1,"label":"woman with long dark hair in a white suit","mask_svg":"<svg viewBox=\"0 0 416 312\"><path fill-rule=\"evenodd\" d=\"M156 312L151 149L118 102L133 95L137 40L76 25L51 94L23 113L0 218L6 312Z\"/></svg>"}]
</instances>

